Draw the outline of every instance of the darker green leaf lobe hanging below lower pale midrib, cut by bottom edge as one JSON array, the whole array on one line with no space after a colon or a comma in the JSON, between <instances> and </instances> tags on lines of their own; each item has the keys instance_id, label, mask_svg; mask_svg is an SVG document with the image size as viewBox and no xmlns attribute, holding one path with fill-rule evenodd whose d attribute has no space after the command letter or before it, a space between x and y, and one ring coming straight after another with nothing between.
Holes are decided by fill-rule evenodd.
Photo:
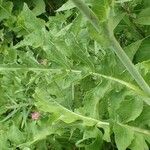
<instances>
[{"instance_id":1,"label":"darker green leaf lobe hanging below lower pale midrib, cut by bottom edge","mask_svg":"<svg viewBox=\"0 0 150 150\"><path fill-rule=\"evenodd\" d=\"M115 124L113 128L115 134L115 142L118 150L126 150L134 139L134 132L119 124Z\"/></svg>"}]
</instances>

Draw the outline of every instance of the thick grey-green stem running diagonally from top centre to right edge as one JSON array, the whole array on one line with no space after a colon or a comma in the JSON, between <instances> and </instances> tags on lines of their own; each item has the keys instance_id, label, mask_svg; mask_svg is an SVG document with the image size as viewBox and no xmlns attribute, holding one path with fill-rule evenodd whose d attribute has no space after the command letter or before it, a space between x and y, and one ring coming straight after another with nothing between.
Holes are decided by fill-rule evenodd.
<instances>
[{"instance_id":1,"label":"thick grey-green stem running diagonally from top centre to right edge","mask_svg":"<svg viewBox=\"0 0 150 150\"><path fill-rule=\"evenodd\" d=\"M99 27L99 20L96 17L95 13L85 4L82 2L82 0L71 0L77 8L88 18L88 20L91 22L91 24L96 28L98 32L100 32ZM131 62L129 57L126 55L120 44L117 42L113 35L113 31L111 31L111 28L108 24L108 36L111 41L111 45L113 47L114 52L119 57L120 61L123 63L123 65L126 67L126 69L129 71L129 73L132 75L132 77L135 79L137 84L143 89L143 91L150 96L150 87L145 82L141 74L138 72L138 70L135 68L134 64Z\"/></svg>"}]
</instances>

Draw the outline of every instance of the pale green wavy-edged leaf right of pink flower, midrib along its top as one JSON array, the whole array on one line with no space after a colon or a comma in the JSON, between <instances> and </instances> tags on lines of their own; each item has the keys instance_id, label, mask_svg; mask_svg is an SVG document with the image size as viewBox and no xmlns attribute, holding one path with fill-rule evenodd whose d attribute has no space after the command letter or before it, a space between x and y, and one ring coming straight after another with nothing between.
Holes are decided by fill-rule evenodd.
<instances>
[{"instance_id":1,"label":"pale green wavy-edged leaf right of pink flower, midrib along its top","mask_svg":"<svg viewBox=\"0 0 150 150\"><path fill-rule=\"evenodd\" d=\"M60 116L59 120L62 120L65 123L72 123L77 120L81 120L83 121L83 124L87 126L93 126L99 122L98 120L82 116L65 108L63 105L59 104L59 102L57 102L55 99L53 99L52 97L50 98L50 96L46 94L46 92L42 91L42 89L36 89L36 94L34 95L34 98L37 101L36 106L40 110L44 112L57 114L58 116ZM99 124L101 125L100 122ZM107 123L102 123L102 125L107 126Z\"/></svg>"}]
</instances>

